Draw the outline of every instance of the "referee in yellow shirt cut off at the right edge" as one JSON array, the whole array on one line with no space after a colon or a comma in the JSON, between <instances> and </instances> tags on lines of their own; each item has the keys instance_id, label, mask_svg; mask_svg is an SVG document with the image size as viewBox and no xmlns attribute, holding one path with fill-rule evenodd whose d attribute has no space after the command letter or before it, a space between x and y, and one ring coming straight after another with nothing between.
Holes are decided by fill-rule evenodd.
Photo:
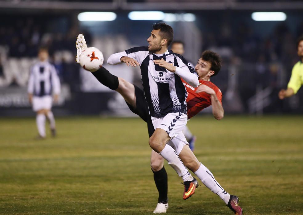
<instances>
[{"instance_id":1,"label":"referee in yellow shirt cut off at the right edge","mask_svg":"<svg viewBox=\"0 0 303 215\"><path fill-rule=\"evenodd\" d=\"M287 85L287 89L281 89L279 92L279 99L290 97L298 92L303 84L303 35L297 41L298 56L301 58L293 66L291 77Z\"/></svg>"}]
</instances>

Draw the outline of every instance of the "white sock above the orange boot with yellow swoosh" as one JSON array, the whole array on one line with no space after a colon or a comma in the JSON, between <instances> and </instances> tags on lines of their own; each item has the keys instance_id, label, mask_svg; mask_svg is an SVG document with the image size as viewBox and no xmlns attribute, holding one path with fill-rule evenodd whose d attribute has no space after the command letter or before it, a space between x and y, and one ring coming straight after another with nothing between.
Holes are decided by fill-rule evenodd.
<instances>
[{"instance_id":1,"label":"white sock above the orange boot with yellow swoosh","mask_svg":"<svg viewBox=\"0 0 303 215\"><path fill-rule=\"evenodd\" d=\"M168 164L177 172L180 177L182 177L184 182L194 180L177 155L176 151L171 146L166 144L164 149L159 154L168 161Z\"/></svg>"}]
</instances>

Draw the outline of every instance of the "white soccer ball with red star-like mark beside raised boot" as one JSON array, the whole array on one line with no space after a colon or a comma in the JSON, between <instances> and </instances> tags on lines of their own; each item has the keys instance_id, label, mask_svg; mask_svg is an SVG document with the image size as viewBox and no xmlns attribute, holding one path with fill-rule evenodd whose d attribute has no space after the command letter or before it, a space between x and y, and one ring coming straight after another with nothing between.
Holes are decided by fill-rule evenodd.
<instances>
[{"instance_id":1,"label":"white soccer ball with red star-like mark beside raised boot","mask_svg":"<svg viewBox=\"0 0 303 215\"><path fill-rule=\"evenodd\" d=\"M79 61L84 69L95 72L103 65L104 58L99 49L89 47L80 54Z\"/></svg>"}]
</instances>

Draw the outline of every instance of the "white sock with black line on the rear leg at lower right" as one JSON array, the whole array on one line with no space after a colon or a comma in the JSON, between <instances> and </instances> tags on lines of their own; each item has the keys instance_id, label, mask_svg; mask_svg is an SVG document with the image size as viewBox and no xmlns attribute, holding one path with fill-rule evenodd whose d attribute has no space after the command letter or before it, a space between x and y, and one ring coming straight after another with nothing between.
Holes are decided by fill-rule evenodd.
<instances>
[{"instance_id":1,"label":"white sock with black line on the rear leg at lower right","mask_svg":"<svg viewBox=\"0 0 303 215\"><path fill-rule=\"evenodd\" d=\"M196 176L200 178L201 182L213 193L216 193L227 205L230 195L222 188L222 186L215 180L215 177L206 166L201 163L199 169L195 172Z\"/></svg>"}]
</instances>

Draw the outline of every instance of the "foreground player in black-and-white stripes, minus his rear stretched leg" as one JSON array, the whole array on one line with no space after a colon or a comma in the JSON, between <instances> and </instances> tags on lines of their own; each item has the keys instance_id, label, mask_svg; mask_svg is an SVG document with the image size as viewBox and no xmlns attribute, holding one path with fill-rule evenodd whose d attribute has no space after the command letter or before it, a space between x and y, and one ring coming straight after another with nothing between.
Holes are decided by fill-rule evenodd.
<instances>
[{"instance_id":1,"label":"foreground player in black-and-white stripes, minus his rear stretched leg","mask_svg":"<svg viewBox=\"0 0 303 215\"><path fill-rule=\"evenodd\" d=\"M165 23L155 23L152 27L151 35L147 38L148 46L112 54L107 63L140 66L150 126L154 130L149 145L182 177L186 199L194 193L198 182L188 172L173 147L166 143L174 138L186 142L182 130L187 123L187 93L181 78L193 87L197 87L199 81L195 69L181 55L168 51L173 39L172 27ZM135 102L126 101L128 104Z\"/></svg>"}]
</instances>

